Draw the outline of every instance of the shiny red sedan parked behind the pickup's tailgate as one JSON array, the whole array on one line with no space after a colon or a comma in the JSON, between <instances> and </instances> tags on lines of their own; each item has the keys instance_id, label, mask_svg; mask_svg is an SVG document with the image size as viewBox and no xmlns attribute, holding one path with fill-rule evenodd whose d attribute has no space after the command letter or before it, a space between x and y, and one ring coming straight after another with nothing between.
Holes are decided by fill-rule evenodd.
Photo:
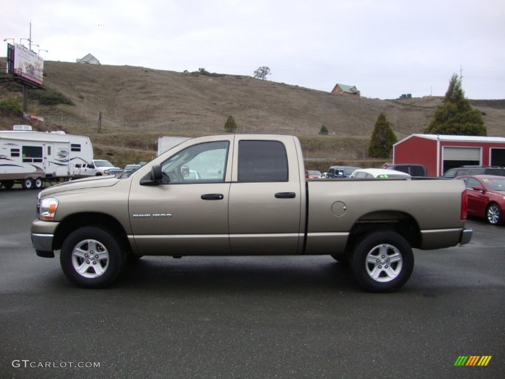
<instances>
[{"instance_id":1,"label":"shiny red sedan parked behind the pickup's tailgate","mask_svg":"<svg viewBox=\"0 0 505 379\"><path fill-rule=\"evenodd\" d=\"M505 177L496 175L458 176L467 185L468 214L484 217L498 225L505 214Z\"/></svg>"}]
</instances>

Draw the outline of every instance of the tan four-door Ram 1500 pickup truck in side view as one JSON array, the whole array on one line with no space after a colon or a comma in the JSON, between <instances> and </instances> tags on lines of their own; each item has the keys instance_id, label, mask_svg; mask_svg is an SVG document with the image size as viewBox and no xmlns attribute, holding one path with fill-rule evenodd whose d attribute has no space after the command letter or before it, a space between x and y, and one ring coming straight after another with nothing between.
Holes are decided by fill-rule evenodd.
<instances>
[{"instance_id":1,"label":"tan four-door Ram 1500 pickup truck in side view","mask_svg":"<svg viewBox=\"0 0 505 379\"><path fill-rule=\"evenodd\" d=\"M133 173L44 189L31 226L87 288L109 286L142 255L330 255L373 292L400 288L412 248L466 244L459 180L305 179L299 141L219 135L171 148Z\"/></svg>"}]
</instances>

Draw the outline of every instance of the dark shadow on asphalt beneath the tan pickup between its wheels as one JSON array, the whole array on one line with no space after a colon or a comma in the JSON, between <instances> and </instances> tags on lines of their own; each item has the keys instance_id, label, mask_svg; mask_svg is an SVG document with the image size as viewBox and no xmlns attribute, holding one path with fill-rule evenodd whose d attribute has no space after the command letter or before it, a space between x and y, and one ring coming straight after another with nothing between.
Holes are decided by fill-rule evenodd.
<instances>
[{"instance_id":1,"label":"dark shadow on asphalt beneath the tan pickup between its wheels","mask_svg":"<svg viewBox=\"0 0 505 379\"><path fill-rule=\"evenodd\" d=\"M361 292L348 267L330 257L143 257L126 265L115 288L206 292Z\"/></svg>"}]
</instances>

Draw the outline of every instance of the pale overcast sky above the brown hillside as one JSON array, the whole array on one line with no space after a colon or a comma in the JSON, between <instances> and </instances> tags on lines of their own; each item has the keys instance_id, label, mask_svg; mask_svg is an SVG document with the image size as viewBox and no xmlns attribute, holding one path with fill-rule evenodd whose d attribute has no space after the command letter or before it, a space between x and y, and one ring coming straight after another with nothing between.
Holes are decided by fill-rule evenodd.
<instances>
[{"instance_id":1,"label":"pale overcast sky above the brown hillside","mask_svg":"<svg viewBox=\"0 0 505 379\"><path fill-rule=\"evenodd\" d=\"M29 38L46 61L249 75L362 96L505 99L503 0L24 0L3 2L0 42ZM28 47L28 41L21 41ZM43 51L47 50L47 52Z\"/></svg>"}]
</instances>

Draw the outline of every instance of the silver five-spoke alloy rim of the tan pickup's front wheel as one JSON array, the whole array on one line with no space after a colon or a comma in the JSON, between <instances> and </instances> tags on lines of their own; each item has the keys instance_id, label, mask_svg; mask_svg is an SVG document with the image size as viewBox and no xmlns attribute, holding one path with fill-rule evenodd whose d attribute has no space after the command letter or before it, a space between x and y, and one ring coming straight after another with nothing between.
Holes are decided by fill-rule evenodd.
<instances>
[{"instance_id":1,"label":"silver five-spoke alloy rim of the tan pickup's front wheel","mask_svg":"<svg viewBox=\"0 0 505 379\"><path fill-rule=\"evenodd\" d=\"M83 277L98 277L109 267L109 252L96 240L81 241L72 251L72 265Z\"/></svg>"}]
</instances>

